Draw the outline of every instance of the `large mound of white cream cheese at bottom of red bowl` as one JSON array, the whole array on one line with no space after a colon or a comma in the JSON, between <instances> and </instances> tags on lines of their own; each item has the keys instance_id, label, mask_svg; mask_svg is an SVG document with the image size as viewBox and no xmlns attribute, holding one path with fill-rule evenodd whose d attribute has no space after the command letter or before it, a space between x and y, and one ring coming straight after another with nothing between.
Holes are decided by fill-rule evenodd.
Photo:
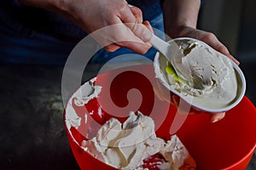
<instances>
[{"instance_id":1,"label":"large mound of white cream cheese at bottom of red bowl","mask_svg":"<svg viewBox=\"0 0 256 170\"><path fill-rule=\"evenodd\" d=\"M143 160L160 153L165 157L165 165L160 169L178 169L190 157L189 152L176 135L165 142L154 133L154 121L138 112L121 124L112 118L106 122L96 137L83 142L82 147L113 167L120 169L142 169ZM195 163L190 166L195 168Z\"/></svg>"}]
</instances>

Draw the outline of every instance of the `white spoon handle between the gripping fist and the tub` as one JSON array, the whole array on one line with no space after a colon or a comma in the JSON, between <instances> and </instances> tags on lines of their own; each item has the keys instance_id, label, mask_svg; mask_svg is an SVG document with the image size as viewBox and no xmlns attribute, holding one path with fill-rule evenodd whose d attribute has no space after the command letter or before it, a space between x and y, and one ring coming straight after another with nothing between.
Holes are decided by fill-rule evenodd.
<instances>
[{"instance_id":1,"label":"white spoon handle between the gripping fist and the tub","mask_svg":"<svg viewBox=\"0 0 256 170\"><path fill-rule=\"evenodd\" d=\"M165 42L164 40L160 39L160 37L157 37L153 34L153 36L150 39L150 43L156 48L161 54L164 54L166 56L166 59L170 60L170 54L171 54L171 46L168 42Z\"/></svg>"}]
</instances>

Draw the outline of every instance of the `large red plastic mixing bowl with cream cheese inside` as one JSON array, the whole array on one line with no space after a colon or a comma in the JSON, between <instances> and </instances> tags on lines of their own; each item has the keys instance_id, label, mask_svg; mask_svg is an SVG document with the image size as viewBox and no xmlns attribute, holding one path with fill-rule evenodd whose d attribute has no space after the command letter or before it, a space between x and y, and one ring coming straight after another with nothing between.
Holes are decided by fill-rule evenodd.
<instances>
[{"instance_id":1,"label":"large red plastic mixing bowl with cream cheese inside","mask_svg":"<svg viewBox=\"0 0 256 170\"><path fill-rule=\"evenodd\" d=\"M108 71L97 76L96 84L102 86L102 93L99 95L99 99L103 99L102 102L109 101L108 98L111 96L113 103L120 107L127 105L126 95L129 89L137 88L142 95L142 103L138 110L148 116L151 116L150 114L154 112L154 106L152 106L155 104L154 102L159 102L160 104L157 105L163 105L163 107L160 107L156 114L161 116L161 113L166 112L167 116L163 120L160 118L154 120L155 123L160 123L160 127L156 129L156 134L163 139L170 138L169 129L172 126L177 108L161 101L154 94L154 70L152 65L137 65ZM110 88L105 91L104 87L107 86ZM107 100L104 100L106 98ZM66 124L68 112L64 111L64 124L68 141L81 169L115 169L102 161L98 161L94 156L90 156L79 145L83 139L86 139L84 136L87 136L89 131L90 133L96 131L94 128L95 122L102 124L111 117L109 108L108 111L104 111L102 105L104 104L99 104L96 99L90 101L86 107L87 110L85 110L85 107L73 105L76 107L75 111L81 117L84 117L83 115L86 112L88 113L89 110L95 111L87 119L87 122L81 126L82 131L81 128L80 130L73 127L68 129ZM96 114L98 107L102 108L101 116ZM128 115L123 114L117 117L123 121L124 116ZM177 136L195 159L197 169L246 169L256 147L256 110L254 105L245 96L239 105L226 112L223 120L211 123L209 116L207 113L189 115L177 131Z\"/></svg>"}]
</instances>

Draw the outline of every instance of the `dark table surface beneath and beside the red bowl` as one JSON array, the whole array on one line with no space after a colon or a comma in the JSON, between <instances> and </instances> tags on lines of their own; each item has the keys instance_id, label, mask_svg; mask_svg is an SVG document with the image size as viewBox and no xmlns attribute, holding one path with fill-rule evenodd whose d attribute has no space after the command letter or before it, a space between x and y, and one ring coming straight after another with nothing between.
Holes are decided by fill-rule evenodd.
<instances>
[{"instance_id":1,"label":"dark table surface beneath and beside the red bowl","mask_svg":"<svg viewBox=\"0 0 256 170\"><path fill-rule=\"evenodd\" d=\"M79 169L63 126L62 71L0 66L0 169ZM247 96L255 102L253 92ZM253 169L255 154L247 167Z\"/></svg>"}]
</instances>

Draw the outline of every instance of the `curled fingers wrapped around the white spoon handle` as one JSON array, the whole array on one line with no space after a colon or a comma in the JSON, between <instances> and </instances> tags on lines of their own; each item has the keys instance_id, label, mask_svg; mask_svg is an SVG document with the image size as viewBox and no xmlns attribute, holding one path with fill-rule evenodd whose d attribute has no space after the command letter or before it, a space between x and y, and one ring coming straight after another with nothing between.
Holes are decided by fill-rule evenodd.
<instances>
[{"instance_id":1,"label":"curled fingers wrapped around the white spoon handle","mask_svg":"<svg viewBox=\"0 0 256 170\"><path fill-rule=\"evenodd\" d=\"M142 11L139 8L129 7L128 4L125 4L119 10L119 16L116 20L113 20L114 23L120 24L121 27L118 28L117 26L114 30L108 31L113 32L112 35L108 34L108 42L114 42L120 47L130 48L139 54L146 54L148 49L151 48L151 44L146 42L151 38L152 33L147 26L139 24L143 20L142 15Z\"/></svg>"}]
</instances>

